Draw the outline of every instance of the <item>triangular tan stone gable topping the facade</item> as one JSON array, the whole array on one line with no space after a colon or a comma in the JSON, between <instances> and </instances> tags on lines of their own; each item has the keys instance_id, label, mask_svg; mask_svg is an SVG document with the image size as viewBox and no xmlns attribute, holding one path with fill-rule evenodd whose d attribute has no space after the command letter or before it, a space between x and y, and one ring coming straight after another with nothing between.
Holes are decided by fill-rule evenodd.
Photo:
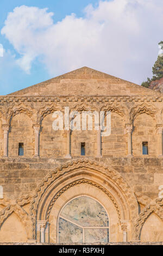
<instances>
[{"instance_id":1,"label":"triangular tan stone gable topping the facade","mask_svg":"<svg viewBox=\"0 0 163 256\"><path fill-rule=\"evenodd\" d=\"M35 84L9 95L22 96L136 96L160 95L115 76L87 68L86 66L45 82Z\"/></svg>"}]
</instances>

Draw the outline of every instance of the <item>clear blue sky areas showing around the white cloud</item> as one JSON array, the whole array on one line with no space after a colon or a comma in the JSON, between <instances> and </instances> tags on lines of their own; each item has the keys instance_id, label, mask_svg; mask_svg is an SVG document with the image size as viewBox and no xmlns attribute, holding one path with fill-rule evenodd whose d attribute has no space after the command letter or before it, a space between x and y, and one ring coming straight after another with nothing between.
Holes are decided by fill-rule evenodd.
<instances>
[{"instance_id":1,"label":"clear blue sky areas showing around the white cloud","mask_svg":"<svg viewBox=\"0 0 163 256\"><path fill-rule=\"evenodd\" d=\"M9 12L12 12L15 7L20 7L21 5L27 5L29 7L36 6L39 8L48 8L50 11L54 12L54 22L61 21L66 15L71 15L71 13L76 13L77 16L83 16L83 9L87 4L97 4L96 0L1 0L0 2L0 29L4 26L4 21L7 19ZM0 44L6 50L10 50L12 54L16 54L18 57L17 51L14 50L14 47L10 42L5 39L5 36L0 34ZM3 63L3 59L0 59ZM8 60L7 60L8 62ZM2 64L3 65L3 64ZM39 83L51 78L51 75L46 70L45 66L38 63L34 63L32 67L31 74L27 74L22 71L22 69L12 67L9 69L10 74L8 73L8 68L10 67L9 63L5 63L6 69L1 73L0 66L0 95L9 94L15 92L16 90L31 86L35 83Z\"/></svg>"}]
</instances>

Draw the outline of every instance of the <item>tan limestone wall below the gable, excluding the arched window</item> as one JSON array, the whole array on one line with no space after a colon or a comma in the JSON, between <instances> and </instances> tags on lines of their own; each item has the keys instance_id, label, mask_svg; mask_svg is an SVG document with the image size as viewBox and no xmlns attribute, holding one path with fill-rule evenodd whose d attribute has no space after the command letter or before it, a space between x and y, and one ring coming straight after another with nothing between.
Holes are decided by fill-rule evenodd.
<instances>
[{"instance_id":1,"label":"tan limestone wall below the gable, excluding the arched window","mask_svg":"<svg viewBox=\"0 0 163 256\"><path fill-rule=\"evenodd\" d=\"M45 242L57 243L61 205L79 194L103 202L108 215L109 204L114 205L110 242L126 237L127 241L162 242L161 95L10 95L0 100L0 242L40 242L44 230ZM53 112L64 113L65 106L70 113L111 111L111 134L101 137L101 156L97 157L94 129L71 132L71 158L66 158L67 133L52 128ZM81 142L85 142L85 156L81 156ZM142 142L148 142L148 155L142 155ZM18 143L24 143L23 156L18 156Z\"/></svg>"}]
</instances>

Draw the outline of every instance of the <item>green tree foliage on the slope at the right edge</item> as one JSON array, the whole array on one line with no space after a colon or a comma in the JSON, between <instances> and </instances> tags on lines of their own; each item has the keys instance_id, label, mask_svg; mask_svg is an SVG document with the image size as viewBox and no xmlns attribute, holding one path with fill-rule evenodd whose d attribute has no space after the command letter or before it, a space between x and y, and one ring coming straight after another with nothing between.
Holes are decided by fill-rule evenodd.
<instances>
[{"instance_id":1,"label":"green tree foliage on the slope at the right edge","mask_svg":"<svg viewBox=\"0 0 163 256\"><path fill-rule=\"evenodd\" d=\"M160 41L159 45L161 46L161 50L163 50L163 41ZM151 79L148 77L147 81L142 82L141 86L148 88L152 81L158 80L163 77L163 54L159 54L158 59L156 60L152 68L152 73L153 77Z\"/></svg>"}]
</instances>

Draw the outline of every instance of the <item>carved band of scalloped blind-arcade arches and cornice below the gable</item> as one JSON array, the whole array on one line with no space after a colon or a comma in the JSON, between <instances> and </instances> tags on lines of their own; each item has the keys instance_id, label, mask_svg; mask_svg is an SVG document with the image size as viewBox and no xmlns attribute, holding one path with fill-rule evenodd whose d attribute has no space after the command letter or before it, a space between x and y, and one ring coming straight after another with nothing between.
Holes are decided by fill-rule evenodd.
<instances>
[{"instance_id":1,"label":"carved band of scalloped blind-arcade arches and cornice below the gable","mask_svg":"<svg viewBox=\"0 0 163 256\"><path fill-rule=\"evenodd\" d=\"M36 100L34 100L34 103L30 102L30 97L25 97L25 98L26 98L26 102L16 101L14 103L9 101L9 104L5 102L4 106L2 106L0 109L0 113L1 113L0 118L3 124L9 125L12 117L14 117L18 113L24 113L24 114L27 114L28 117L32 119L33 125L34 124L40 125L41 121L43 120L44 117L46 117L47 114L53 113L54 111L61 111L64 113L64 106L66 102L65 100L67 99L67 97L65 98L65 100L64 100L64 97L61 97L62 101L61 100L49 101L46 99L49 99L51 97L44 96L44 97L41 97L41 99L44 102L42 107L42 101L39 100L40 97L34 97L34 96L32 97L33 99L34 98L37 99L37 103L35 103ZM57 99L57 97L54 97L54 98ZM71 98L71 96L68 97L68 99L69 98ZM126 121L126 123L130 123L130 124L133 123L137 115L141 113L146 113L151 115L151 117L154 118L156 123L158 123L158 120L160 121L161 106L159 108L156 108L155 105L149 106L146 102L142 103L141 97L139 97L140 103L136 102L135 106L132 107L130 110L127 107L127 101L129 101L130 99L129 96L128 97L126 96L126 100L123 100L124 99L123 96L122 97L108 96L107 97L108 100L105 99L106 97L99 96L99 97L96 97L96 100L99 100L98 102L95 99L93 99L93 97L90 97L92 99L91 102L87 101L88 98L89 97L84 97L84 101L80 101L79 103L76 103L75 106L73 106L72 103L68 103L68 105L70 105L69 106L70 112L72 111L81 112L81 111L90 111L90 110L91 111L112 111L119 114ZM135 97L131 97L131 98L135 98ZM123 103L119 102L118 99L121 99ZM73 101L71 100L68 102L73 102Z\"/></svg>"}]
</instances>

